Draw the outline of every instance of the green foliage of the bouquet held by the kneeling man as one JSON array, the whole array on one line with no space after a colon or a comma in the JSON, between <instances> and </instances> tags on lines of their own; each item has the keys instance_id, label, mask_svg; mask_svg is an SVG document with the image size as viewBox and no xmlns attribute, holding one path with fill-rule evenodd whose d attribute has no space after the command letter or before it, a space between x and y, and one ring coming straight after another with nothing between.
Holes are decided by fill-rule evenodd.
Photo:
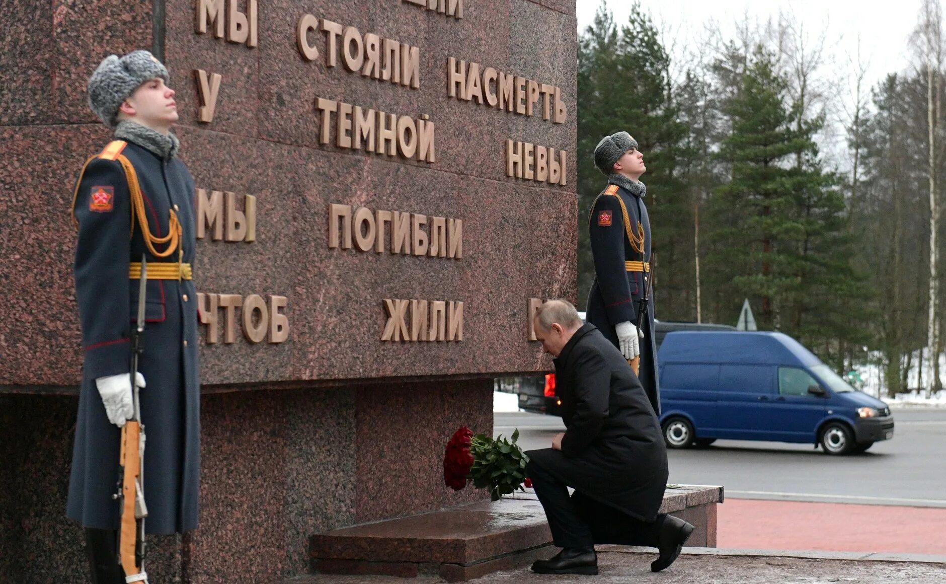
<instances>
[{"instance_id":1,"label":"green foliage of the bouquet held by the kneeling man","mask_svg":"<svg viewBox=\"0 0 946 584\"><path fill-rule=\"evenodd\" d=\"M473 466L469 479L473 481L474 487L488 488L493 501L499 501L500 497L516 489L525 490L522 484L526 482L529 456L517 445L518 439L518 430L513 433L512 442L503 438L502 434L495 439L486 434L473 436L470 444Z\"/></svg>"}]
</instances>

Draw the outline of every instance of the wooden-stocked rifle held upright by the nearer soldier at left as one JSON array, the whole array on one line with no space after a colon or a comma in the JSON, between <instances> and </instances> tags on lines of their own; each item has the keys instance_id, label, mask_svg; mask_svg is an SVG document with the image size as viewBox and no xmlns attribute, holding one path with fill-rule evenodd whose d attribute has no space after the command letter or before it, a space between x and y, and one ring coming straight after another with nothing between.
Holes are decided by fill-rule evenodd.
<instances>
[{"instance_id":1,"label":"wooden-stocked rifle held upright by the nearer soldier at left","mask_svg":"<svg viewBox=\"0 0 946 584\"><path fill-rule=\"evenodd\" d=\"M125 581L148 584L145 572L145 426L141 423L141 401L138 396L138 358L143 350L145 335L145 302L148 293L148 266L141 257L141 278L138 280L138 320L132 330L131 345L131 399L134 416L121 429L118 492L113 498L119 502L121 522L118 528L118 562L125 572Z\"/></svg>"}]
</instances>

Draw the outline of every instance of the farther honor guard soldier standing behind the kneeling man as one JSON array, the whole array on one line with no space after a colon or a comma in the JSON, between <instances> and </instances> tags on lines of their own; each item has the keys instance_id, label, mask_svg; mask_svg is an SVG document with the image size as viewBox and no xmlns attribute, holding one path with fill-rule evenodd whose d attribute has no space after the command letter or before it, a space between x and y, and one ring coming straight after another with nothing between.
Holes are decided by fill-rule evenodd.
<instances>
[{"instance_id":1,"label":"farther honor guard soldier standing behind the kneeling man","mask_svg":"<svg viewBox=\"0 0 946 584\"><path fill-rule=\"evenodd\" d=\"M621 349L660 415L657 343L651 273L651 230L639 181L647 169L629 133L604 136L594 149L595 167L607 176L588 216L595 280L587 301L587 322Z\"/></svg>"}]
</instances>

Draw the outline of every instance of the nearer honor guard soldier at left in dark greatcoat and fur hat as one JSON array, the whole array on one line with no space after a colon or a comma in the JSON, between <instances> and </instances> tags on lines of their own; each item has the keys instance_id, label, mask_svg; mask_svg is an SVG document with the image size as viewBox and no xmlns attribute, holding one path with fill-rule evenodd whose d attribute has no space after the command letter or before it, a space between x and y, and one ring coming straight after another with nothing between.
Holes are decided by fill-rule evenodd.
<instances>
[{"instance_id":1,"label":"nearer honor guard soldier at left in dark greatcoat and fur hat","mask_svg":"<svg viewBox=\"0 0 946 584\"><path fill-rule=\"evenodd\" d=\"M93 582L125 582L116 561L119 428L132 419L131 338L142 257L147 329L134 384L148 428L143 491L148 534L197 527L200 381L194 180L170 133L177 121L165 66L137 50L102 61L89 106L114 141L79 172L73 217L84 364L67 515L85 528Z\"/></svg>"}]
</instances>

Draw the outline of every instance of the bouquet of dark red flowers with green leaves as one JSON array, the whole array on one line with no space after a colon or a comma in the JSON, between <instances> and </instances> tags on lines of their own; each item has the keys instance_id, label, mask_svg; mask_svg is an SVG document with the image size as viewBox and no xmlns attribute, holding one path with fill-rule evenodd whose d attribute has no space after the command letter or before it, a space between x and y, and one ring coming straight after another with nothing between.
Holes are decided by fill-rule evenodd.
<instances>
[{"instance_id":1,"label":"bouquet of dark red flowers with green leaves","mask_svg":"<svg viewBox=\"0 0 946 584\"><path fill-rule=\"evenodd\" d=\"M503 495L532 487L526 478L526 463L529 456L516 444L519 431L513 433L510 442L500 434L492 438L485 434L473 435L462 426L447 442L444 453L444 482L453 490L473 483L477 488L488 488L493 501Z\"/></svg>"}]
</instances>

